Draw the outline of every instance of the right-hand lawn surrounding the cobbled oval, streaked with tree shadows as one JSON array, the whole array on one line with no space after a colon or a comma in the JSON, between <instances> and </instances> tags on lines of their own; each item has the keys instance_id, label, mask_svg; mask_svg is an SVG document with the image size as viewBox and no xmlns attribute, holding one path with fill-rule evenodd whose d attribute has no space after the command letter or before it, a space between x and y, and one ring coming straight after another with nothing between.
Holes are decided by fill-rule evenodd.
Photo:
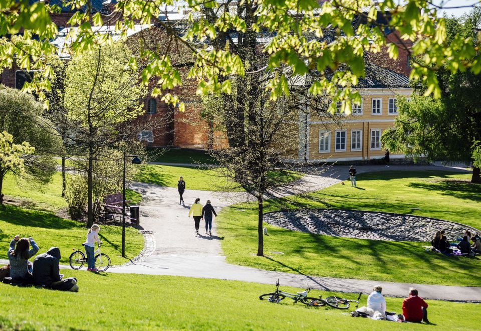
<instances>
[{"instance_id":1,"label":"right-hand lawn surrounding the cobbled oval, streaked with tree shadows","mask_svg":"<svg viewBox=\"0 0 481 331\"><path fill-rule=\"evenodd\" d=\"M333 207L410 213L458 221L479 227L479 186L460 187L436 182L426 172L361 174L359 186L335 185L298 203L310 208ZM438 173L444 178L468 175ZM406 178L400 178L405 176ZM439 179L440 180L440 179ZM467 187L466 187L467 186ZM443 188L449 187L449 190ZM266 202L265 210L285 208ZM293 206L291 206L293 207ZM239 211L242 208L244 211ZM425 252L423 243L361 240L285 230L269 224L264 251L257 257L257 210L255 205L224 208L217 218L218 232L227 261L268 270L343 278L444 285L481 284L479 257L445 257ZM274 255L269 252L284 252Z\"/></svg>"}]
</instances>

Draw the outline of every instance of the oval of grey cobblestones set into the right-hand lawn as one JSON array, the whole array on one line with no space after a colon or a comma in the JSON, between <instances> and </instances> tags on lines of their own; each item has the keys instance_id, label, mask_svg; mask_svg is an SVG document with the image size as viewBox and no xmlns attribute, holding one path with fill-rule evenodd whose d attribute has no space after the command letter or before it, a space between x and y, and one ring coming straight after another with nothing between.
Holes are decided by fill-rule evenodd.
<instances>
[{"instance_id":1,"label":"oval of grey cobblestones set into the right-hand lawn","mask_svg":"<svg viewBox=\"0 0 481 331\"><path fill-rule=\"evenodd\" d=\"M273 212L264 215L264 221L289 230L359 239L430 241L436 231L445 230L452 241L466 229L479 233L466 225L427 217L338 209Z\"/></svg>"}]
</instances>

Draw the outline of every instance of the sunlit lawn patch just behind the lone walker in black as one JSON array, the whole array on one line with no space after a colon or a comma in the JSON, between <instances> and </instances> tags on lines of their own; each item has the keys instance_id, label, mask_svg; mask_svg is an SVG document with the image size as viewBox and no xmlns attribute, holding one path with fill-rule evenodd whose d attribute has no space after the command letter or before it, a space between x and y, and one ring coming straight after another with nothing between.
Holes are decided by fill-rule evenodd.
<instances>
[{"instance_id":1,"label":"sunlit lawn patch just behind the lone walker in black","mask_svg":"<svg viewBox=\"0 0 481 331\"><path fill-rule=\"evenodd\" d=\"M272 176L276 175L278 173L272 174ZM176 188L180 176L183 177L187 190L224 191L226 187L232 187L232 185L228 184L228 180L219 176L215 170L198 167L175 167L172 165L142 165L135 180ZM290 183L301 177L302 174L300 173L290 172L279 177L278 182Z\"/></svg>"}]
</instances>

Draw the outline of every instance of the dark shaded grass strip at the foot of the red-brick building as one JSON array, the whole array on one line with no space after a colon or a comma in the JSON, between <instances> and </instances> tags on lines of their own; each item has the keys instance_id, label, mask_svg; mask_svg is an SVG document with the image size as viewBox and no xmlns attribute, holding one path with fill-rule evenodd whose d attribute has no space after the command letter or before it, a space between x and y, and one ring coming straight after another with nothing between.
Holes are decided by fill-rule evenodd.
<instances>
[{"instance_id":1,"label":"dark shaded grass strip at the foot of the red-brick building","mask_svg":"<svg viewBox=\"0 0 481 331\"><path fill-rule=\"evenodd\" d=\"M148 148L147 152L153 157L151 161L154 162L216 164L215 159L204 150Z\"/></svg>"}]
</instances>

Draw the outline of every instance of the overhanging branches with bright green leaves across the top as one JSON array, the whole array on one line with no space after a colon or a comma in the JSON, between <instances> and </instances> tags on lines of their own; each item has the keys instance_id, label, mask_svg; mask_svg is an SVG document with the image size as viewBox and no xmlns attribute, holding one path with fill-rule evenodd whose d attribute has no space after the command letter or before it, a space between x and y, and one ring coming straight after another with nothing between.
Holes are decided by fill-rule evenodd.
<instances>
[{"instance_id":1,"label":"overhanging branches with bright green leaves across the top","mask_svg":"<svg viewBox=\"0 0 481 331\"><path fill-rule=\"evenodd\" d=\"M14 58L22 68L43 69L27 90L48 88L47 79L52 77L48 64L55 48L50 40L57 35L57 28L51 15L59 12L59 6L45 2L30 5L27 0L0 0L0 35L7 36L23 31L23 38L4 40L0 43L0 66L9 67ZM231 6L235 3L235 6ZM127 30L135 22L156 23L171 36L171 42L183 43L191 49L194 66L190 77L199 80L199 94L208 92L228 92L227 76L251 74L249 67L240 60L240 55L232 52L232 36L244 38L249 32L266 33L272 37L263 47L269 61L266 69L272 71L268 89L271 97L287 93L287 78L279 68L282 64L291 67L294 74L303 75L315 70L324 73L325 69L335 71L329 79L318 75L312 82L313 94L329 94L334 104L341 102L341 108L349 112L351 100L360 101L359 94L352 89L359 77L364 76L364 50L379 52L387 46L389 56L397 57L399 47L406 42L414 42L407 51L414 59L411 78L426 85L425 94L439 97L436 70L442 66L452 72L469 70L473 74L481 72L481 56L476 54L472 37L456 35L446 38L446 20L437 17L437 8L427 0L407 0L403 6L394 0L379 4L372 0L331 0L319 4L314 0L187 0L181 13L187 13L182 24L160 19L167 13L173 0L124 0L115 4L111 15L102 17L95 12L90 1L67 0L65 5L72 9L82 9L69 20L67 40L73 53L91 52L96 45L111 43L110 34L100 34L103 25L115 25L115 29L126 37ZM388 14L385 14L389 12ZM378 20L378 16L388 16L388 20ZM35 18L34 20L32 18ZM165 15L163 16L165 17ZM359 19L360 18L360 19ZM353 25L353 21L357 21ZM322 41L327 27L342 31L335 41ZM305 32L316 38L306 38ZM388 32L397 31L398 43L389 43ZM38 38L33 38L33 36ZM220 37L220 38L219 38ZM209 45L209 41L217 42ZM159 88L153 90L158 95L165 89L181 84L178 70L171 64L169 47L162 51L144 49L140 52L149 65L142 70L143 81L158 80ZM129 65L136 67L136 59ZM178 98L164 94L164 100L178 103ZM183 105L179 108L182 110Z\"/></svg>"}]
</instances>

